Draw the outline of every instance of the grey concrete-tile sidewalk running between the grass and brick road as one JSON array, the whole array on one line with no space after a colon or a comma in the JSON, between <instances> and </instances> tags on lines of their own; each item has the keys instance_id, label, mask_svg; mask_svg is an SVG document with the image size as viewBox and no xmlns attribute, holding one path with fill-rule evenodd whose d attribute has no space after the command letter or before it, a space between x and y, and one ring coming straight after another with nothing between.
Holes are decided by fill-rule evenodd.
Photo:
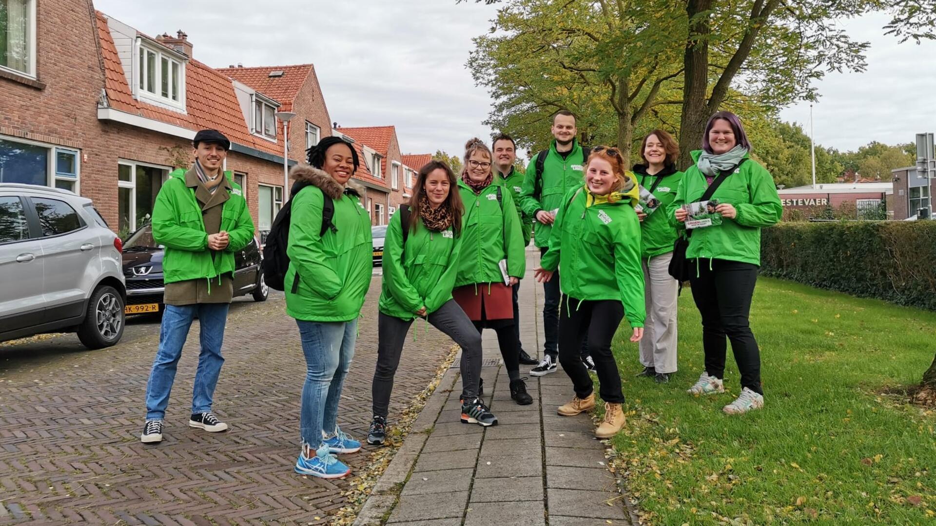
<instances>
[{"instance_id":1,"label":"grey concrete-tile sidewalk running between the grass and brick road","mask_svg":"<svg viewBox=\"0 0 936 526\"><path fill-rule=\"evenodd\" d=\"M542 356L543 287L533 278L539 255L527 257L520 336L528 353ZM637 524L607 470L606 446L594 438L591 417L556 414L574 395L561 369L529 377L534 403L517 405L497 338L486 330L481 376L499 424L482 428L460 421L458 363L427 402L356 526ZM520 372L530 368L520 366Z\"/></svg>"}]
</instances>

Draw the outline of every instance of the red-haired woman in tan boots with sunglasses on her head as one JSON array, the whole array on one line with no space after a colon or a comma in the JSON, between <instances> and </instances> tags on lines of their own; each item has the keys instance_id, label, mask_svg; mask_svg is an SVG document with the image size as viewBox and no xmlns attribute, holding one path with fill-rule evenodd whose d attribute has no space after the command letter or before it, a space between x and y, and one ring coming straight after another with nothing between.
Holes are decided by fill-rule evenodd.
<instances>
[{"instance_id":1,"label":"red-haired woman in tan boots with sunglasses on her head","mask_svg":"<svg viewBox=\"0 0 936 526\"><path fill-rule=\"evenodd\" d=\"M598 438L610 438L624 427L621 374L611 354L611 340L622 318L632 328L631 342L643 337L644 278L640 222L634 210L639 190L634 174L625 172L623 164L615 148L592 149L585 184L563 197L549 248L536 269L536 280L542 283L563 269L559 363L572 379L576 395L558 413L576 416L594 407L592 377L579 358L587 336L605 401L605 418L595 430Z\"/></svg>"}]
</instances>

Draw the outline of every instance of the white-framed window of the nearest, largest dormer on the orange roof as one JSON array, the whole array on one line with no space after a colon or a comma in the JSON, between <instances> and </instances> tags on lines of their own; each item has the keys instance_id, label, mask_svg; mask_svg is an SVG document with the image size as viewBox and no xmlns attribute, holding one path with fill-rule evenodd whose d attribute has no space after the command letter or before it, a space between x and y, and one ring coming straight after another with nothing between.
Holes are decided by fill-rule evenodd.
<instances>
[{"instance_id":1,"label":"white-framed window of the nearest, largest dormer on the orange roof","mask_svg":"<svg viewBox=\"0 0 936 526\"><path fill-rule=\"evenodd\" d=\"M185 108L184 63L172 51L139 45L137 93L147 102Z\"/></svg>"}]
</instances>

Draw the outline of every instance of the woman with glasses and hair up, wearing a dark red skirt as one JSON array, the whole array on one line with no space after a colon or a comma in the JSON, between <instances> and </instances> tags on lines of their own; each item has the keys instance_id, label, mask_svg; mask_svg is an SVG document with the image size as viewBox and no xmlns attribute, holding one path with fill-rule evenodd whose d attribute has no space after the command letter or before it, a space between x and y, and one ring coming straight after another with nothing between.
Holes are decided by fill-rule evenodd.
<instances>
[{"instance_id":1,"label":"woman with glasses and hair up, wearing a dark red skirt","mask_svg":"<svg viewBox=\"0 0 936 526\"><path fill-rule=\"evenodd\" d=\"M514 332L513 285L526 271L523 234L513 192L494 179L493 155L481 139L465 144L459 192L465 205L461 262L452 296L475 322L478 332L494 329L510 376L510 398L520 405L533 403L519 373L519 347ZM502 268L503 265L503 268ZM462 381L464 381L462 379ZM472 411L487 411L477 400L461 408L461 421Z\"/></svg>"}]
</instances>

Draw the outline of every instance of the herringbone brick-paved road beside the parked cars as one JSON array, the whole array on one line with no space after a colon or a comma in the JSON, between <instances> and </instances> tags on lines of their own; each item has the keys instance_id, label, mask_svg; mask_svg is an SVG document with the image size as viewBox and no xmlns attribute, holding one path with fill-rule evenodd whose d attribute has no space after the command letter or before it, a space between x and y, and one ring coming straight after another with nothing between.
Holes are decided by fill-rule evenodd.
<instances>
[{"instance_id":1,"label":"herringbone brick-paved road beside the parked cars","mask_svg":"<svg viewBox=\"0 0 936 526\"><path fill-rule=\"evenodd\" d=\"M340 424L362 437L376 360L374 278L358 350L344 385ZM226 433L187 426L197 364L197 324L183 351L165 440L139 443L158 321L133 320L123 341L87 351L74 335L0 344L0 524L324 523L344 505L348 482L292 472L299 450L304 377L299 331L282 294L237 300L214 411ZM451 342L417 324L407 340L391 420L431 380ZM352 468L370 455L344 456ZM320 519L316 520L318 517Z\"/></svg>"}]
</instances>

